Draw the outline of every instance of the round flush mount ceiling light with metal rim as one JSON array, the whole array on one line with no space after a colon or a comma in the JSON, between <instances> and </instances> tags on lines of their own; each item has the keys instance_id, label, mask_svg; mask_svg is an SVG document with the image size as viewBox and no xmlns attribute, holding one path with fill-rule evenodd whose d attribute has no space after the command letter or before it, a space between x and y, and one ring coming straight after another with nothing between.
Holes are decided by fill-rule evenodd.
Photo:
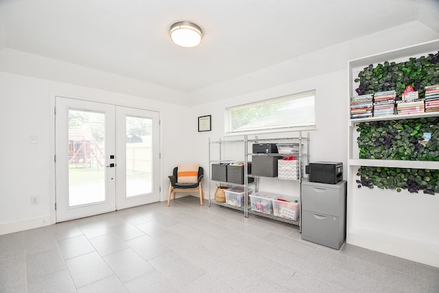
<instances>
[{"instance_id":1,"label":"round flush mount ceiling light with metal rim","mask_svg":"<svg viewBox=\"0 0 439 293\"><path fill-rule=\"evenodd\" d=\"M200 44L203 32L201 27L189 21L179 21L169 29L171 40L181 47L195 47Z\"/></svg>"}]
</instances>

